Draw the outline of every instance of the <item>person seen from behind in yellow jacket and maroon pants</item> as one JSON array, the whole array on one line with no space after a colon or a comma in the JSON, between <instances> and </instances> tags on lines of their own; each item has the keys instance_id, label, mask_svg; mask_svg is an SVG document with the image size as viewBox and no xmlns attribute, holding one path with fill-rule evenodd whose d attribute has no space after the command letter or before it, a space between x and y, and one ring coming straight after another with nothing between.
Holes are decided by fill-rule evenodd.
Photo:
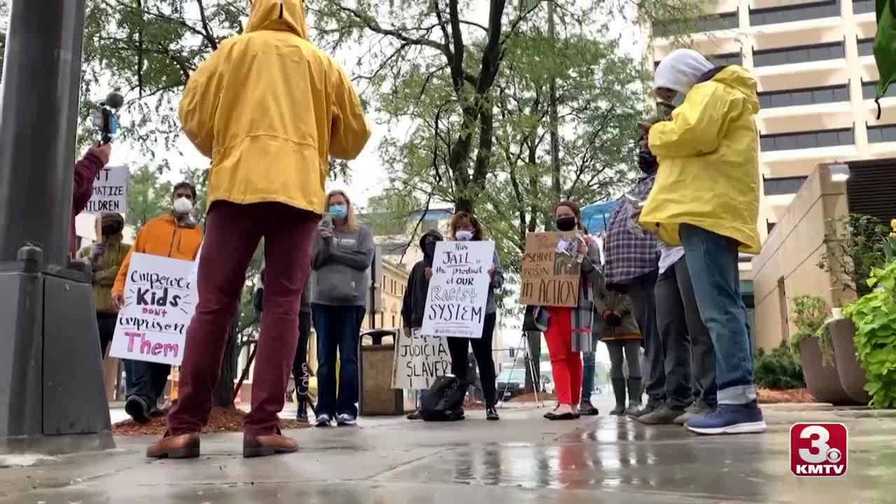
<instances>
[{"instance_id":1,"label":"person seen from behind in yellow jacket and maroon pants","mask_svg":"<svg viewBox=\"0 0 896 504\"><path fill-rule=\"evenodd\" d=\"M331 157L354 159L370 136L349 77L308 40L301 0L254 0L242 35L190 76L180 103L186 136L211 158L199 302L186 331L179 398L149 457L196 457L227 326L264 239L262 330L243 456L297 450L280 435L299 300L321 220Z\"/></svg>"}]
</instances>

